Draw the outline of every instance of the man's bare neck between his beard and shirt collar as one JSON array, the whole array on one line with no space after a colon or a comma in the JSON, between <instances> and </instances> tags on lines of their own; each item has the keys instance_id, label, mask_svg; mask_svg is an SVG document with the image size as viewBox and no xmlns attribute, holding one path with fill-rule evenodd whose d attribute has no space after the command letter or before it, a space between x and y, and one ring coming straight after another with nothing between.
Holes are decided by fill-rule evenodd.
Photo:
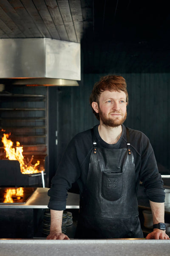
<instances>
[{"instance_id":1,"label":"man's bare neck between his beard and shirt collar","mask_svg":"<svg viewBox=\"0 0 170 256\"><path fill-rule=\"evenodd\" d=\"M110 127L100 124L98 127L99 135L108 144L115 144L118 142L122 134L122 125L117 127Z\"/></svg>"}]
</instances>

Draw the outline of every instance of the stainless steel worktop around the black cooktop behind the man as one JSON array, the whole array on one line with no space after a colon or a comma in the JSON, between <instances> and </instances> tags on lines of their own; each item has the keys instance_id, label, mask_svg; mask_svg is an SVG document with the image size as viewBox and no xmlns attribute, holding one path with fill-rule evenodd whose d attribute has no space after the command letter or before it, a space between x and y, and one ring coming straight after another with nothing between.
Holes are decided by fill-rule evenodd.
<instances>
[{"instance_id":1,"label":"stainless steel worktop around the black cooktop behind the man","mask_svg":"<svg viewBox=\"0 0 170 256\"><path fill-rule=\"evenodd\" d=\"M0 204L0 208L48 208L49 196L47 195L49 188L37 188L31 195L26 204ZM68 192L67 209L79 209L79 195Z\"/></svg>"}]
</instances>

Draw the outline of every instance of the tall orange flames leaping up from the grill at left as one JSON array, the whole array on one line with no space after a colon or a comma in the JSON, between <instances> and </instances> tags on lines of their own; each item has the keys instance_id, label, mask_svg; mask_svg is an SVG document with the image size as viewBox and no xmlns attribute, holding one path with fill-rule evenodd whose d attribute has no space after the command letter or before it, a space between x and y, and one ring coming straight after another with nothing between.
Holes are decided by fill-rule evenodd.
<instances>
[{"instance_id":1,"label":"tall orange flames leaping up from the grill at left","mask_svg":"<svg viewBox=\"0 0 170 256\"><path fill-rule=\"evenodd\" d=\"M3 134L2 142L4 145L4 149L6 151L6 158L9 160L18 160L20 162L20 169L23 174L31 174L40 172L37 167L40 165L40 161L38 160L37 163L34 165L31 164L33 157L28 163L25 163L24 156L23 156L23 147L20 146L19 141L16 142L17 147L12 148L13 142L8 139L10 134Z\"/></svg>"}]
</instances>

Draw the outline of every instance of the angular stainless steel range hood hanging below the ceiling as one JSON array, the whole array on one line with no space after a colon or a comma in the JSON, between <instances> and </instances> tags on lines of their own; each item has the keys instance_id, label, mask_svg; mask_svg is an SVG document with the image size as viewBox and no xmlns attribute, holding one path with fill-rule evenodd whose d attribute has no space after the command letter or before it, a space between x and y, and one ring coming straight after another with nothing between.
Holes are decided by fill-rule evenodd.
<instances>
[{"instance_id":1,"label":"angular stainless steel range hood hanging below the ceiling","mask_svg":"<svg viewBox=\"0 0 170 256\"><path fill-rule=\"evenodd\" d=\"M0 83L78 85L80 44L50 38L0 39Z\"/></svg>"}]
</instances>

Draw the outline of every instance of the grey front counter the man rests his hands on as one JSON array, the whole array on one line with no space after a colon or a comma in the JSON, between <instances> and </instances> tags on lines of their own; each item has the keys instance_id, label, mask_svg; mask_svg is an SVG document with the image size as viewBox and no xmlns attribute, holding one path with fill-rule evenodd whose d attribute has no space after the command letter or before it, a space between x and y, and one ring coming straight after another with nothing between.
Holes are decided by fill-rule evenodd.
<instances>
[{"instance_id":1,"label":"grey front counter the man rests his hands on","mask_svg":"<svg viewBox=\"0 0 170 256\"><path fill-rule=\"evenodd\" d=\"M169 256L170 240L0 239L0 256Z\"/></svg>"}]
</instances>

